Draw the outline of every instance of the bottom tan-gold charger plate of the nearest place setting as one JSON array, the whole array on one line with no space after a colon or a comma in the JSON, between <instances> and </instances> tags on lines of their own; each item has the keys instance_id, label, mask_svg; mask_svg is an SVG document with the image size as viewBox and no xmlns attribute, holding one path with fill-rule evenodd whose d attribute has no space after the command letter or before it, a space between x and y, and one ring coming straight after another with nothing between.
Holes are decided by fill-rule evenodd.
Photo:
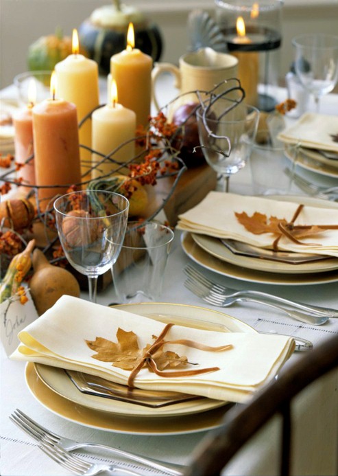
<instances>
[{"instance_id":1,"label":"bottom tan-gold charger plate of the nearest place setting","mask_svg":"<svg viewBox=\"0 0 338 476\"><path fill-rule=\"evenodd\" d=\"M172 416L171 418L138 418L120 416L84 407L67 400L53 392L36 373L34 364L27 363L25 379L30 392L38 402L56 415L84 427L112 431L114 433L128 433L132 435L178 435L197 433L218 427L228 405L204 411L198 414Z\"/></svg>"}]
</instances>

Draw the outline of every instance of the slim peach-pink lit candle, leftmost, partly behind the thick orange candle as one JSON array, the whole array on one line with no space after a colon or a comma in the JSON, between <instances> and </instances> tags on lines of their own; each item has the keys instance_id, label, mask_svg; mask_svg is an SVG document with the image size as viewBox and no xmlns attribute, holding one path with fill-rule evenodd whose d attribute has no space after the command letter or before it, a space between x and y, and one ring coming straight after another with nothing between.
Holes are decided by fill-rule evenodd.
<instances>
[{"instance_id":1,"label":"slim peach-pink lit candle, leftmost, partly behind the thick orange candle","mask_svg":"<svg viewBox=\"0 0 338 476\"><path fill-rule=\"evenodd\" d=\"M32 108L36 101L36 84L34 81L28 85L29 104L24 109L20 109L13 115L14 125L14 151L15 161L22 167L16 172L16 177L23 185L35 184L34 159L28 163L25 161L33 155L33 115ZM23 165L24 164L24 165ZM29 191L30 188L22 187L22 190Z\"/></svg>"}]
</instances>

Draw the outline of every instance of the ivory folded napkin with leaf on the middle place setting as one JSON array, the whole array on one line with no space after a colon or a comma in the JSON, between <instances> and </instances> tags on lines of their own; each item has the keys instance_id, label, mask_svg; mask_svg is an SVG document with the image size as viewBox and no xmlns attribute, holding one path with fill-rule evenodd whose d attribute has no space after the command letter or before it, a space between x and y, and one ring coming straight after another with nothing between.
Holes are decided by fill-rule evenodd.
<instances>
[{"instance_id":1,"label":"ivory folded napkin with leaf on the middle place setting","mask_svg":"<svg viewBox=\"0 0 338 476\"><path fill-rule=\"evenodd\" d=\"M298 205L300 203L282 201L282 197L277 201L259 196L209 192L198 205L178 217L177 228L216 238L232 238L256 247L271 248L276 234L253 234L239 223L235 213L246 212L251 217L255 212L259 212L267 218L285 218L289 223ZM295 225L338 225L338 209L305 205L295 220ZM278 249L338 257L338 228L322 230L319 234L300 238L300 241L302 245L282 236Z\"/></svg>"}]
</instances>

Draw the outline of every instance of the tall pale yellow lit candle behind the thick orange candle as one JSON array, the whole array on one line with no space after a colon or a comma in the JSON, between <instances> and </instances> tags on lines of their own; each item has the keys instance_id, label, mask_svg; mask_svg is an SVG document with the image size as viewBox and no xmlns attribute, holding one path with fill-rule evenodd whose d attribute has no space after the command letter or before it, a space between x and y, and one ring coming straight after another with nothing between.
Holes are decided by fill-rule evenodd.
<instances>
[{"instance_id":1,"label":"tall pale yellow lit candle behind the thick orange candle","mask_svg":"<svg viewBox=\"0 0 338 476\"><path fill-rule=\"evenodd\" d=\"M77 31L73 30L73 54L67 56L55 67L58 80L58 95L73 102L77 108L77 121L80 123L90 111L99 105L99 69L97 63L79 54ZM80 144L92 147L91 120L87 119L79 129ZM90 170L91 152L80 148L82 175ZM90 179L88 173L84 180Z\"/></svg>"}]
</instances>

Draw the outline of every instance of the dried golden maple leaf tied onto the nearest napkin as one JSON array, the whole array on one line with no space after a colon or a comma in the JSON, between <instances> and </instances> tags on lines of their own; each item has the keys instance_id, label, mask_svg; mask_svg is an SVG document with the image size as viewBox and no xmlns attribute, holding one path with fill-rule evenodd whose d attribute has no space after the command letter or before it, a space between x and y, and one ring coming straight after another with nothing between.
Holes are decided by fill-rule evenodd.
<instances>
[{"instance_id":1,"label":"dried golden maple leaf tied onto the nearest napkin","mask_svg":"<svg viewBox=\"0 0 338 476\"><path fill-rule=\"evenodd\" d=\"M153 336L153 339L157 339L157 337ZM117 330L117 343L103 337L97 337L95 341L86 341L86 344L90 349L97 352L97 354L93 355L93 359L102 362L112 362L114 367L119 367L123 370L133 370L138 360L151 347L150 344L147 344L141 350L138 347L136 334L121 328ZM163 350L157 350L152 355L152 359L156 362L159 370L164 370L168 367L183 367L188 363L188 359L185 356L180 357L175 352Z\"/></svg>"}]
</instances>

